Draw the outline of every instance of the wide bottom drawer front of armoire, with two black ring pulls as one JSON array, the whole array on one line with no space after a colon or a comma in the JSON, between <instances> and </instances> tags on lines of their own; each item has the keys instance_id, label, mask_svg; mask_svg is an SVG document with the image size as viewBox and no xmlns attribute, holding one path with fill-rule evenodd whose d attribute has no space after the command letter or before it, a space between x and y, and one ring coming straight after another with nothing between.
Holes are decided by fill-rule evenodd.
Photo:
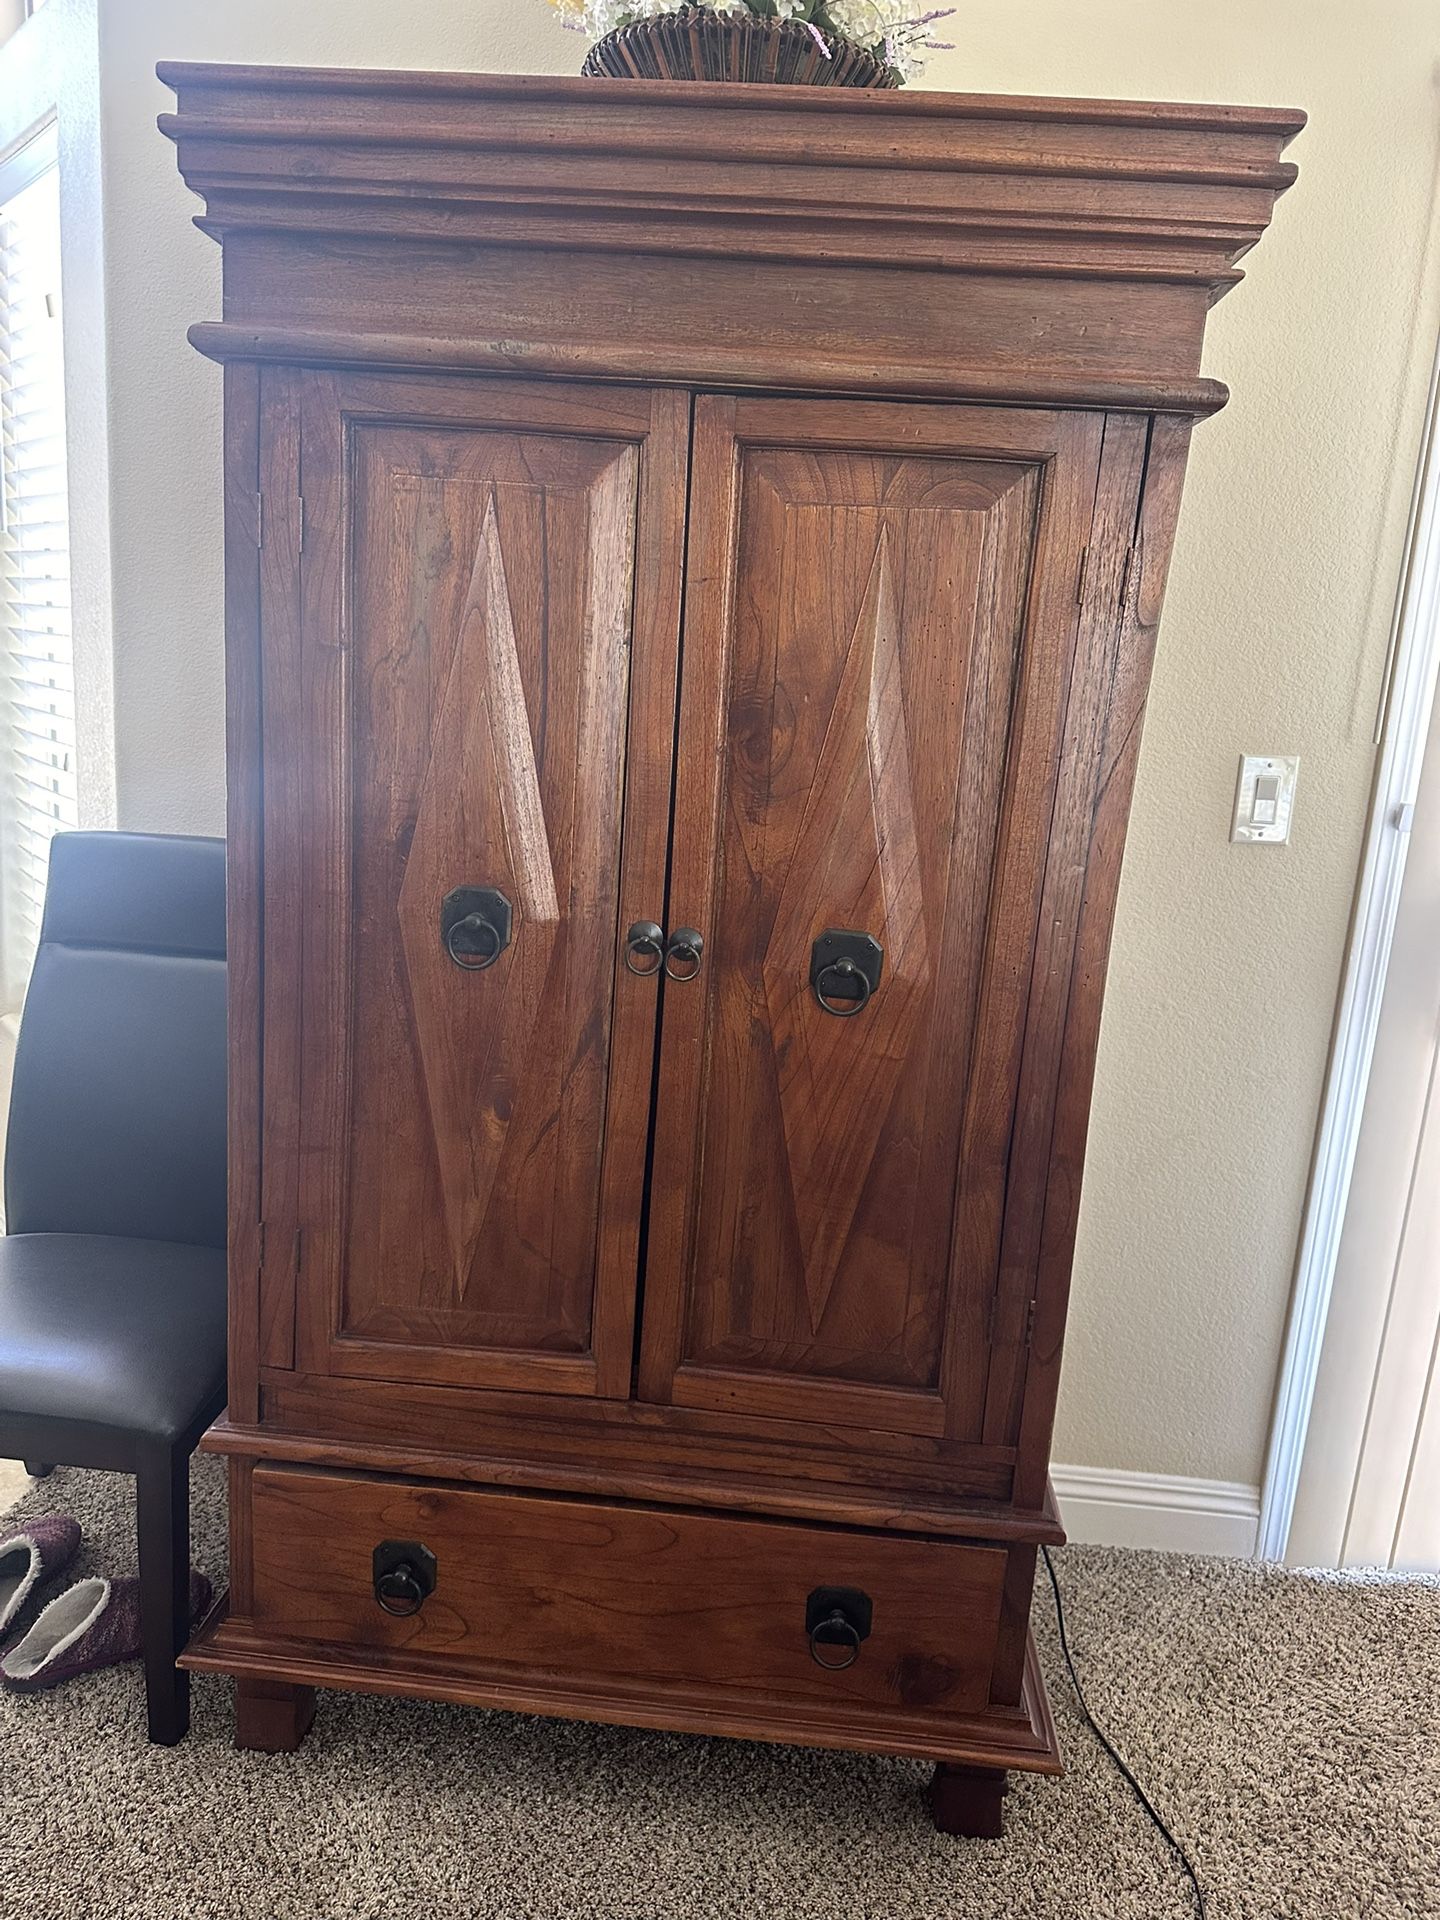
<instances>
[{"instance_id":1,"label":"wide bottom drawer front of armoire, with two black ring pulls","mask_svg":"<svg viewBox=\"0 0 1440 1920\"><path fill-rule=\"evenodd\" d=\"M255 1471L252 1500L253 1620L288 1638L847 1707L989 1701L1000 1548L280 1467ZM434 1594L407 1619L374 1597L388 1540L434 1555ZM849 1668L810 1655L816 1588L872 1603Z\"/></svg>"}]
</instances>

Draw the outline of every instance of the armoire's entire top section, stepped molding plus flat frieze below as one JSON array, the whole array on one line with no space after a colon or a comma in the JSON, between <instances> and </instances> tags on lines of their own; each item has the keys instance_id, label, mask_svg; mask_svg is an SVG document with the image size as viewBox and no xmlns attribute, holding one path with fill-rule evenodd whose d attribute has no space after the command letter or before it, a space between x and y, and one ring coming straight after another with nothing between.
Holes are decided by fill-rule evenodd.
<instances>
[{"instance_id":1,"label":"armoire's entire top section, stepped molding plus flat frieze below","mask_svg":"<svg viewBox=\"0 0 1440 1920\"><path fill-rule=\"evenodd\" d=\"M161 131L273 357L1210 413L1208 307L1304 115L165 63ZM413 301L378 296L405 248ZM582 311L584 309L584 315ZM780 351L783 344L783 353ZM396 361L396 353L403 357ZM572 367L574 351L586 365Z\"/></svg>"}]
</instances>

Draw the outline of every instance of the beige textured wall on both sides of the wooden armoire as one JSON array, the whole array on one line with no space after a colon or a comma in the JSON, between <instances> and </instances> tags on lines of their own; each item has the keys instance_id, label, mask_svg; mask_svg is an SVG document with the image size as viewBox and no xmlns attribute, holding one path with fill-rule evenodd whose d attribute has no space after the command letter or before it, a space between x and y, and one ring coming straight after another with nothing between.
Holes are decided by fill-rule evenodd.
<instances>
[{"instance_id":1,"label":"beige textured wall on both sides of the wooden armoire","mask_svg":"<svg viewBox=\"0 0 1440 1920\"><path fill-rule=\"evenodd\" d=\"M52 0L71 6L75 0ZM1371 778L1436 324L1434 0L962 0L931 83L1298 104L1300 186L1215 313L1121 897L1058 1453L1256 1482ZM159 58L566 71L541 0L125 0L102 21L119 810L221 804L219 255L154 131ZM1427 278L1428 273L1428 278ZM1427 301L1421 303L1421 288ZM1240 749L1298 753L1233 849Z\"/></svg>"}]
</instances>

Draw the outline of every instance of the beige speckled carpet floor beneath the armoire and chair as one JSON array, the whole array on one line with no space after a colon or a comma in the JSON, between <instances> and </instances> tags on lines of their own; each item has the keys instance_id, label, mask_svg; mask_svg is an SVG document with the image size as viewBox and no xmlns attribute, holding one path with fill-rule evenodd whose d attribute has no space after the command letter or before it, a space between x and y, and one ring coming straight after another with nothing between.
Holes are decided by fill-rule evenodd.
<instances>
[{"instance_id":1,"label":"beige speckled carpet floor beneath the armoire and chair","mask_svg":"<svg viewBox=\"0 0 1440 1920\"><path fill-rule=\"evenodd\" d=\"M132 1565L129 1482L60 1471ZM223 1492L196 1469L198 1557ZM15 1515L10 1517L13 1524ZM1213 1920L1440 1914L1440 1584L1069 1549L1091 1703L1190 1847ZM88 1569L86 1569L88 1571ZM1077 1722L1050 1601L1064 1782L1004 1841L947 1841L906 1761L685 1740L330 1693L294 1757L228 1745L221 1682L148 1747L138 1668L0 1699L0 1884L56 1920L1167 1920L1162 1843Z\"/></svg>"}]
</instances>

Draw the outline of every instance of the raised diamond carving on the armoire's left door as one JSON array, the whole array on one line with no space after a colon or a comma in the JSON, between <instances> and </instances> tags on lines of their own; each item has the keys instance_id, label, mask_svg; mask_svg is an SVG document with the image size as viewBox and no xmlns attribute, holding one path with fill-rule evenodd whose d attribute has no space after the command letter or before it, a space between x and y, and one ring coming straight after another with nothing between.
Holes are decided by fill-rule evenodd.
<instances>
[{"instance_id":1,"label":"raised diamond carving on the armoire's left door","mask_svg":"<svg viewBox=\"0 0 1440 1920\"><path fill-rule=\"evenodd\" d=\"M440 939L440 902L457 885L499 887L515 912L486 972L457 968ZM561 920L493 490L396 912L463 1300Z\"/></svg>"}]
</instances>

